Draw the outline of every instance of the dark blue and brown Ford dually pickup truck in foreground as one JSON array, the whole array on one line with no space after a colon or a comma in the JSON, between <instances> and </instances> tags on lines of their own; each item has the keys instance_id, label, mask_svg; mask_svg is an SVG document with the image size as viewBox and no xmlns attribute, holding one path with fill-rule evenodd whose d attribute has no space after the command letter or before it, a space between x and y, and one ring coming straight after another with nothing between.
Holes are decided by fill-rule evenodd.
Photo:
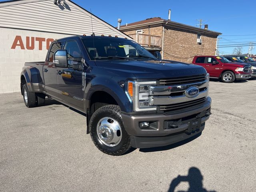
<instances>
[{"instance_id":1,"label":"dark blue and brown Ford dually pickup truck in foreground","mask_svg":"<svg viewBox=\"0 0 256 192\"><path fill-rule=\"evenodd\" d=\"M200 134L211 114L203 67L161 60L125 38L55 40L45 62L25 63L20 80L28 108L48 96L85 113L87 133L110 155Z\"/></svg>"}]
</instances>

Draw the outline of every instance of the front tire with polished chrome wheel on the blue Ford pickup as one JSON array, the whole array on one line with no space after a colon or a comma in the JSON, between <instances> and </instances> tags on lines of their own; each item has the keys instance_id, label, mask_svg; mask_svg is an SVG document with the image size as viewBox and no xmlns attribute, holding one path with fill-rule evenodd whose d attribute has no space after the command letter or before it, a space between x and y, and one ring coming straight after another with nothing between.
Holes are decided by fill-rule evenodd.
<instances>
[{"instance_id":1,"label":"front tire with polished chrome wheel on the blue Ford pickup","mask_svg":"<svg viewBox=\"0 0 256 192\"><path fill-rule=\"evenodd\" d=\"M108 155L119 156L131 148L130 136L124 129L121 109L117 105L96 110L90 119L89 130L95 146Z\"/></svg>"}]
</instances>

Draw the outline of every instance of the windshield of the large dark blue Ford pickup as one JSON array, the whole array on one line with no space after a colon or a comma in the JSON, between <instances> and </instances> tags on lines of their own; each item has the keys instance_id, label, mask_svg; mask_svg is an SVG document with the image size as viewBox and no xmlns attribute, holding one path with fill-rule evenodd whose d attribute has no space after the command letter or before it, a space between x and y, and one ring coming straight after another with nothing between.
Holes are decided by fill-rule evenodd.
<instances>
[{"instance_id":1,"label":"windshield of the large dark blue Ford pickup","mask_svg":"<svg viewBox=\"0 0 256 192\"><path fill-rule=\"evenodd\" d=\"M82 38L82 42L91 60L157 60L139 44L124 38Z\"/></svg>"}]
</instances>

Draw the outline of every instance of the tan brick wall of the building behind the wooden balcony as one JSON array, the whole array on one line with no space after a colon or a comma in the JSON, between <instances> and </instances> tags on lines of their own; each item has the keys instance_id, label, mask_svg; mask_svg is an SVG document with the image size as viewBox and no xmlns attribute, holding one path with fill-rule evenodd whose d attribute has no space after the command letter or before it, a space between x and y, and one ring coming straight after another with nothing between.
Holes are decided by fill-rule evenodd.
<instances>
[{"instance_id":1,"label":"tan brick wall of the building behind the wooden balcony","mask_svg":"<svg viewBox=\"0 0 256 192\"><path fill-rule=\"evenodd\" d=\"M139 29L143 29L143 34L156 35L162 38L162 26L138 28L137 30ZM136 30L124 31L124 33L136 34ZM217 36L201 33L201 38L202 44L198 44L196 42L197 32L165 26L163 58L190 63L196 55L214 55Z\"/></svg>"}]
</instances>

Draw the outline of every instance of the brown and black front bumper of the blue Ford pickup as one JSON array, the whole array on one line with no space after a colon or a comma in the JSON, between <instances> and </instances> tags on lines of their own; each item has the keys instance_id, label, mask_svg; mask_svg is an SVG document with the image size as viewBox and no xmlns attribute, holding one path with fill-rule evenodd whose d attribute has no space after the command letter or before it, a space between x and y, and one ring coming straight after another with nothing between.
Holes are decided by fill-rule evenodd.
<instances>
[{"instance_id":1,"label":"brown and black front bumper of the blue Ford pickup","mask_svg":"<svg viewBox=\"0 0 256 192\"><path fill-rule=\"evenodd\" d=\"M198 107L190 107L175 114L127 114L122 113L126 132L136 148L164 146L201 132L204 122L210 117L211 98ZM153 122L154 129L140 128L140 122Z\"/></svg>"}]
</instances>

